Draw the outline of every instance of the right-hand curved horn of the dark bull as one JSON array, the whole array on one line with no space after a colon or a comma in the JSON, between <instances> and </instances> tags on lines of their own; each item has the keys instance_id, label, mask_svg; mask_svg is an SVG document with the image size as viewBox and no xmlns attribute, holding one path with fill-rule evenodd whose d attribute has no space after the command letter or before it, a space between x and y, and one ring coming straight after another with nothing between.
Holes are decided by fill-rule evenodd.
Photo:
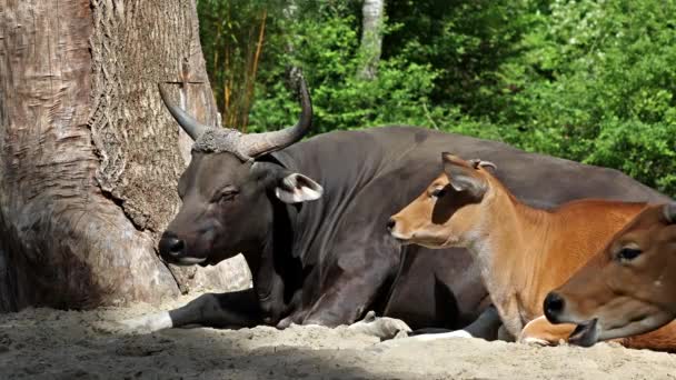
<instances>
[{"instance_id":1,"label":"right-hand curved horn of the dark bull","mask_svg":"<svg viewBox=\"0 0 676 380\"><path fill-rule=\"evenodd\" d=\"M245 134L239 150L252 158L284 149L302 139L312 124L312 102L305 79L300 78L300 120L296 126L275 132Z\"/></svg>"}]
</instances>

